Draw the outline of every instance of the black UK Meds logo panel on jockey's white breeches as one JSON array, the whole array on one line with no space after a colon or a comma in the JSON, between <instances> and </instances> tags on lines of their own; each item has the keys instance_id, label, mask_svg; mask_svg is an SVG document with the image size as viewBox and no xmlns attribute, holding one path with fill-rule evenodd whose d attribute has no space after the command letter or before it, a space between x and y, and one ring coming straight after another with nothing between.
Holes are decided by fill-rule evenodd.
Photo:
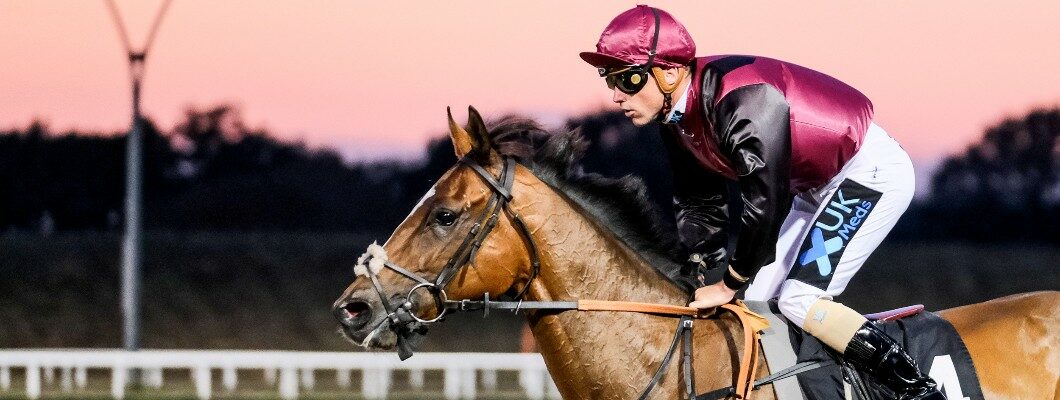
<instances>
[{"instance_id":1,"label":"black UK Meds logo panel on jockey's white breeches","mask_svg":"<svg viewBox=\"0 0 1060 400\"><path fill-rule=\"evenodd\" d=\"M882 193L861 184L844 180L814 221L789 279L828 289L843 251L865 224L881 196Z\"/></svg>"}]
</instances>

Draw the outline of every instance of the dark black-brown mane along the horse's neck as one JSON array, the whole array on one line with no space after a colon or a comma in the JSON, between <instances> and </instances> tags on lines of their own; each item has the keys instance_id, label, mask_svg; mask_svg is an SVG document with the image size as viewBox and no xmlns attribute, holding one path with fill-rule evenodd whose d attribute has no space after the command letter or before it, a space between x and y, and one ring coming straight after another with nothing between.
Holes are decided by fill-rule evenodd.
<instances>
[{"instance_id":1,"label":"dark black-brown mane along the horse's neck","mask_svg":"<svg viewBox=\"0 0 1060 400\"><path fill-rule=\"evenodd\" d=\"M640 177L611 178L585 172L578 161L588 141L579 131L551 133L530 119L509 116L489 124L491 144L588 211L616 238L637 251L679 285L681 264L674 262L677 240L662 229L659 213ZM688 288L685 288L688 290Z\"/></svg>"}]
</instances>

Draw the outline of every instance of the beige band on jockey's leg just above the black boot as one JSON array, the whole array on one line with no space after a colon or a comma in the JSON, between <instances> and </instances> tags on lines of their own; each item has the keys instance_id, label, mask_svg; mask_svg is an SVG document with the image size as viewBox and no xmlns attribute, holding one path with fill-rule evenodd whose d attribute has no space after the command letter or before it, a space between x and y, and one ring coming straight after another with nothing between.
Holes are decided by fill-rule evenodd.
<instances>
[{"instance_id":1,"label":"beige band on jockey's leg just above the black boot","mask_svg":"<svg viewBox=\"0 0 1060 400\"><path fill-rule=\"evenodd\" d=\"M822 298L810 307L802 329L828 347L844 353L854 333L867 321L865 316L849 307Z\"/></svg>"}]
</instances>

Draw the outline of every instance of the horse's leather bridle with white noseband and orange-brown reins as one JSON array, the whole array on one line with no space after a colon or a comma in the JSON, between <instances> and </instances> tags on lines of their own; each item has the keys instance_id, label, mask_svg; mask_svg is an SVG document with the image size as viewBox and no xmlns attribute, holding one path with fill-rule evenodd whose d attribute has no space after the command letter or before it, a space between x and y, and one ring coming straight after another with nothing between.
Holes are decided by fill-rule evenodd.
<instances>
[{"instance_id":1,"label":"horse's leather bridle with white noseband and orange-brown reins","mask_svg":"<svg viewBox=\"0 0 1060 400\"><path fill-rule=\"evenodd\" d=\"M383 302L387 316L386 318L383 318L378 325L376 325L375 329L382 326L382 324L390 324L389 328L398 335L398 354L401 360L406 360L412 356L414 347L426 334L427 326L442 319L442 317L450 311L481 310L483 316L489 316L490 310L509 310L515 313L518 313L520 310L548 310L559 312L575 310L612 311L636 312L679 318L673 342L671 342L670 348L664 356L662 362L660 363L655 375L652 377L652 380L638 397L640 400L647 399L652 389L654 389L658 382L661 381L674 353L676 352L678 343L683 344L683 375L685 378L685 393L688 395L688 399L702 399L705 398L705 396L718 395L722 393L726 395L736 395L737 398L745 399L750 390L775 380L787 378L793 373L793 368L789 368L762 380L754 380L754 373L758 367L758 338L761 335L762 330L768 327L768 321L748 310L746 306L739 300L736 303L721 306L722 309L736 314L744 332L744 356L740 363L737 382L734 386L721 388L700 396L695 395L695 384L693 380L694 373L692 371L692 323L695 318L708 317L709 315L707 313L684 306L634 301L589 299L577 301L524 301L523 296L530 289L530 284L537 277L541 271L541 259L537 255L537 245L534 242L533 237L530 234L530 229L527 228L526 223L523 222L519 214L509 207L509 202L512 199L512 185L515 180L516 162L509 157L505 157L500 176L497 178L491 175L477 161L469 157L461 158L459 162L475 171L476 174L481 177L488 186L490 186L493 194L487 202L482 213L476 219L475 225L472 226L467 236L464 237L463 242L459 247L457 247L453 257L446 261L445 266L442 268L441 273L438 274L438 277L435 278L434 281L430 281L405 267L402 267L401 265L391 262L387 258L386 251L383 247L377 244L369 246L368 251L357 260L357 265L354 267L354 271L358 276L367 276L371 280L372 288L379 296L379 300ZM485 238L496 226L501 212L511 219L515 227L518 228L522 237L526 240L527 247L529 247L531 272L526 284L514 297L512 297L513 300L491 300L489 293L487 293L481 300L449 300L445 294L445 289L448 286L453 278L456 277L457 273L459 273L464 265L475 259L475 255L477 254L479 247L481 247L482 242L485 241ZM396 306L390 301L394 298L394 296L391 296L383 288L382 283L379 283L378 273L383 268L390 269L416 282L416 285L408 291L405 297L402 298L401 301L399 301L400 303ZM514 284L511 290L514 290ZM416 305L413 305L412 301L413 294L416 294L417 291L426 291L430 294L436 306L437 315L435 317L424 319L416 314L413 311ZM802 370L799 370L798 372L801 371Z\"/></svg>"}]
</instances>

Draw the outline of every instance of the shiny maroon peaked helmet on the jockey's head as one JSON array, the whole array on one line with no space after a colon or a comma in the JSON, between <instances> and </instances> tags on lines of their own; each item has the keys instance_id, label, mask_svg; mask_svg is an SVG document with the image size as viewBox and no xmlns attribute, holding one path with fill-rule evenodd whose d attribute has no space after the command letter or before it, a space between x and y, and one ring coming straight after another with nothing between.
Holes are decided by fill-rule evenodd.
<instances>
[{"instance_id":1,"label":"shiny maroon peaked helmet on the jockey's head","mask_svg":"<svg viewBox=\"0 0 1060 400\"><path fill-rule=\"evenodd\" d=\"M647 64L683 67L695 58L695 41L670 13L640 4L607 24L600 34L597 51L580 55L597 68Z\"/></svg>"}]
</instances>

